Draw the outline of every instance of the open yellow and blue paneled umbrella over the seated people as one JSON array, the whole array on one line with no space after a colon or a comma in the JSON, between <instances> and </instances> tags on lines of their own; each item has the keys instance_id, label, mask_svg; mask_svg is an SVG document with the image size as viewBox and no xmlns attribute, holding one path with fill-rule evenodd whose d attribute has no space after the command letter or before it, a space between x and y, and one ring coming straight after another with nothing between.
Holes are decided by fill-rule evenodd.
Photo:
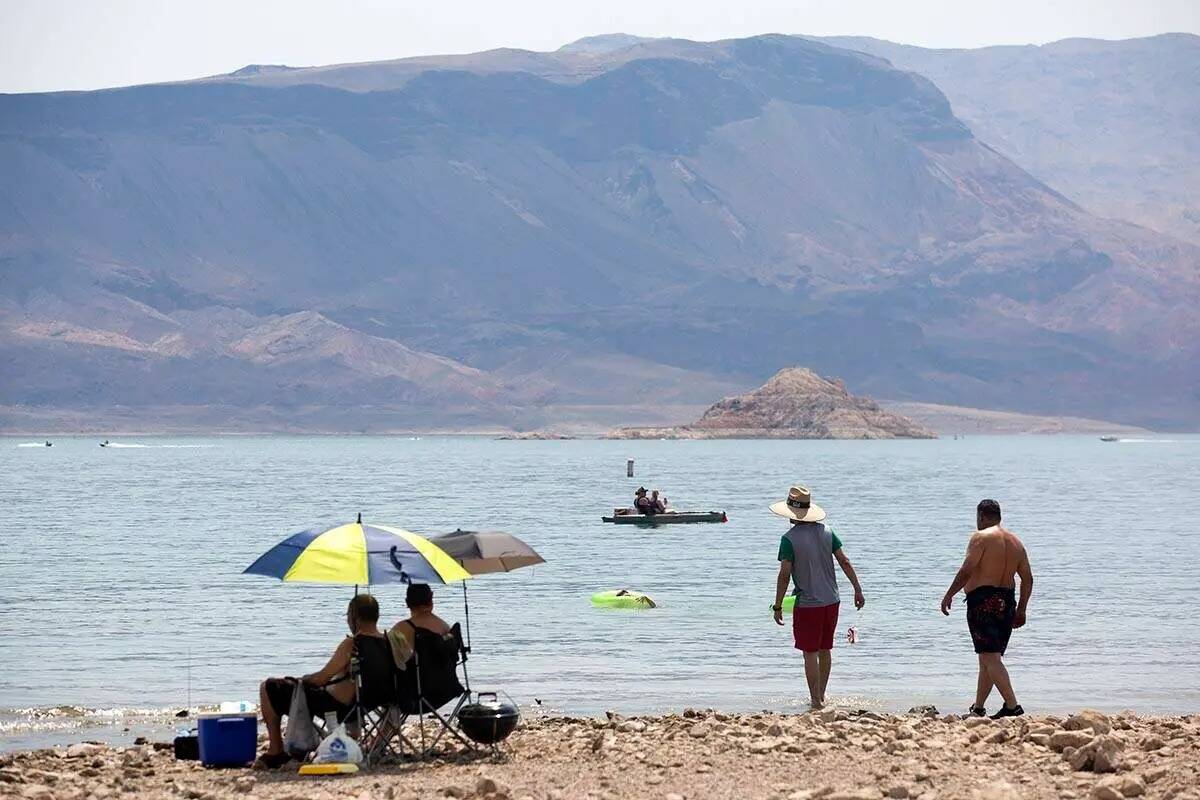
<instances>
[{"instance_id":1,"label":"open yellow and blue paneled umbrella over the seated people","mask_svg":"<svg viewBox=\"0 0 1200 800\"><path fill-rule=\"evenodd\" d=\"M258 557L244 575L347 585L452 583L470 577L424 536L389 525L362 524L361 515L358 522L310 528L288 536Z\"/></svg>"}]
</instances>

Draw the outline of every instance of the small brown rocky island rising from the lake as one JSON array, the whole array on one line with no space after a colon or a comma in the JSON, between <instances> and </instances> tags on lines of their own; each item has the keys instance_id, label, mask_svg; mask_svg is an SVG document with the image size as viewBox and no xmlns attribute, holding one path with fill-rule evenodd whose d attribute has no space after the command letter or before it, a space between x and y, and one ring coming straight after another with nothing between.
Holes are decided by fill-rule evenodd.
<instances>
[{"instance_id":1,"label":"small brown rocky island rising from the lake","mask_svg":"<svg viewBox=\"0 0 1200 800\"><path fill-rule=\"evenodd\" d=\"M748 395L727 397L691 425L619 428L610 439L936 439L906 416L869 397L856 397L841 380L811 369L780 369Z\"/></svg>"}]
</instances>

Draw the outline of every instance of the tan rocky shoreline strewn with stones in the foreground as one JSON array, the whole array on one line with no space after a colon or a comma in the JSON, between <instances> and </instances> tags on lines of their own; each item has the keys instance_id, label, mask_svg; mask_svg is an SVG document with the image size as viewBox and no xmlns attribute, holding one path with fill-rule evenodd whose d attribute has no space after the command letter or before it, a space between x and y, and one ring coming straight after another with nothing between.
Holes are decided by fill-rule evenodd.
<instances>
[{"instance_id":1,"label":"tan rocky shoreline strewn with stones in the foreground","mask_svg":"<svg viewBox=\"0 0 1200 800\"><path fill-rule=\"evenodd\" d=\"M826 710L527 720L498 757L448 754L344 777L208 770L170 746L77 744L0 756L28 800L1121 800L1200 799L1200 716L992 722Z\"/></svg>"}]
</instances>

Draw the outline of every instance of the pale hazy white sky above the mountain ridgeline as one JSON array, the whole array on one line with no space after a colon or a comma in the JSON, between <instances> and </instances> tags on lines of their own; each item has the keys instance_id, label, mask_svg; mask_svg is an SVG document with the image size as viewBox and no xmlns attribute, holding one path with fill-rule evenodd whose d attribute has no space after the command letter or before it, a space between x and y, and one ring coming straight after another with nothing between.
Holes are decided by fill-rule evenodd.
<instances>
[{"instance_id":1,"label":"pale hazy white sky above the mountain ridgeline","mask_svg":"<svg viewBox=\"0 0 1200 800\"><path fill-rule=\"evenodd\" d=\"M1200 0L0 0L0 91L96 89L623 31L853 34L929 47L1200 32Z\"/></svg>"}]
</instances>

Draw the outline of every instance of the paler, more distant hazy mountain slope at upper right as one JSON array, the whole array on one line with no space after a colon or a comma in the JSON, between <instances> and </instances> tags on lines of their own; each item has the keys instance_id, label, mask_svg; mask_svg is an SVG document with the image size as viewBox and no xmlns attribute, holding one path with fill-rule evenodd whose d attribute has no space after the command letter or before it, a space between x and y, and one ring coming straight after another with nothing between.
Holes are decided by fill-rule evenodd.
<instances>
[{"instance_id":1,"label":"paler, more distant hazy mountain slope at upper right","mask_svg":"<svg viewBox=\"0 0 1200 800\"><path fill-rule=\"evenodd\" d=\"M973 50L823 41L925 76L976 136L1088 210L1200 243L1200 36Z\"/></svg>"}]
</instances>

